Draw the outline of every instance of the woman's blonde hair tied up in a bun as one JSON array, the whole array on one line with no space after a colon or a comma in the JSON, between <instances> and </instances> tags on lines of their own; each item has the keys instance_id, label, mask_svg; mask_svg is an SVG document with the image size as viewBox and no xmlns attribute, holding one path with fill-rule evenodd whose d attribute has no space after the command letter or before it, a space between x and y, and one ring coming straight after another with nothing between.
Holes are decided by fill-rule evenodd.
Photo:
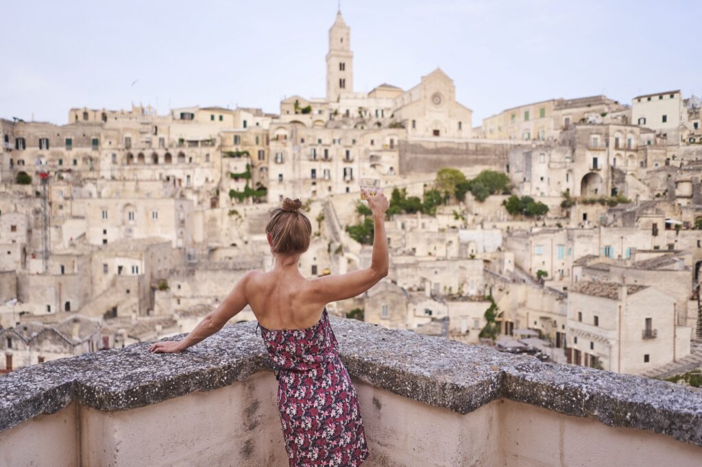
<instances>
[{"instance_id":1,"label":"woman's blonde hair tied up in a bun","mask_svg":"<svg viewBox=\"0 0 702 467\"><path fill-rule=\"evenodd\" d=\"M300 212L299 199L285 198L281 208L270 210L270 221L265 228L272 238L271 250L278 255L298 255L310 248L312 224Z\"/></svg>"}]
</instances>

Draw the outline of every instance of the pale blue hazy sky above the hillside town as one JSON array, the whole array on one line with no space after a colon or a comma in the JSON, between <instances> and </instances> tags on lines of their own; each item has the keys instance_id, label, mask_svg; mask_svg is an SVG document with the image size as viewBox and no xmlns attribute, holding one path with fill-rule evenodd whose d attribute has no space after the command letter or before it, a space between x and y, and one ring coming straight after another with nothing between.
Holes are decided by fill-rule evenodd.
<instances>
[{"instance_id":1,"label":"pale blue hazy sky above the hillside town","mask_svg":"<svg viewBox=\"0 0 702 467\"><path fill-rule=\"evenodd\" d=\"M277 112L324 97L336 0L6 1L0 117L70 107L220 105ZM441 67L473 126L553 97L702 93L702 1L343 0L355 90Z\"/></svg>"}]
</instances>

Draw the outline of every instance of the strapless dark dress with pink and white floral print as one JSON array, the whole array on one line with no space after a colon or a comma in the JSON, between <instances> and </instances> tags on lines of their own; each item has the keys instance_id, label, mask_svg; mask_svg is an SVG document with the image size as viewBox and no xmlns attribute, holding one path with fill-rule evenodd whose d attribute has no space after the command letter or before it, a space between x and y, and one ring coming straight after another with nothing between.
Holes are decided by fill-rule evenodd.
<instances>
[{"instance_id":1,"label":"strapless dark dress with pink and white floral print","mask_svg":"<svg viewBox=\"0 0 702 467\"><path fill-rule=\"evenodd\" d=\"M275 367L291 466L359 466L369 456L355 388L324 307L317 324L261 337Z\"/></svg>"}]
</instances>

